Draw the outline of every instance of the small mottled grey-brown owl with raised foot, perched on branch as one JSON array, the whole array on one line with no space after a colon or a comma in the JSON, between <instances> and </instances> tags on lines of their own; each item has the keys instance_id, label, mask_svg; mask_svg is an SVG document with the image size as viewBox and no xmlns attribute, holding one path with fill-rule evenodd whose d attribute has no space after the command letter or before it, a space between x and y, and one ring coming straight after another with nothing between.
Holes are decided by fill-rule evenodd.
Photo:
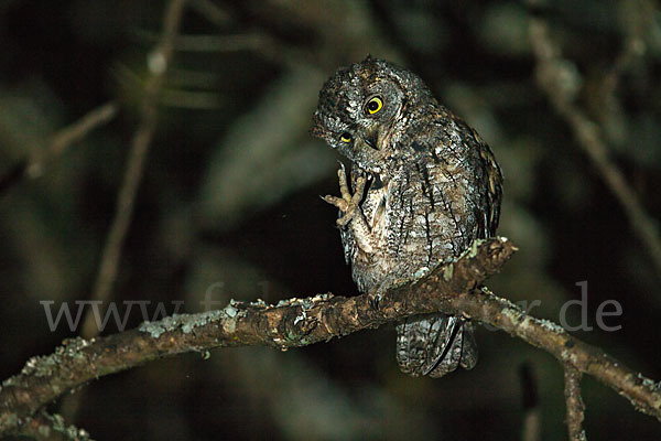
<instances>
[{"instance_id":1,"label":"small mottled grey-brown owl with raised foot, perched on branch","mask_svg":"<svg viewBox=\"0 0 661 441\"><path fill-rule=\"evenodd\" d=\"M361 292L386 290L458 257L498 226L502 176L489 147L413 73L367 57L319 93L312 133L351 162L338 171L337 225ZM349 182L347 182L349 181ZM477 363L473 324L425 314L397 325L397 359L441 377Z\"/></svg>"}]
</instances>

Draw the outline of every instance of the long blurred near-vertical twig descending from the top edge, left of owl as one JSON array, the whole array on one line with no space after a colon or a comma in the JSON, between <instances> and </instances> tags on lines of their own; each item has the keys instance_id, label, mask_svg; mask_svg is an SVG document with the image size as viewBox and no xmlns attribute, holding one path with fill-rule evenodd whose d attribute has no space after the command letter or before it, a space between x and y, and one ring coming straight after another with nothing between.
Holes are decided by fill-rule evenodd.
<instances>
[{"instance_id":1,"label":"long blurred near-vertical twig descending from the top edge, left of owl","mask_svg":"<svg viewBox=\"0 0 661 441\"><path fill-rule=\"evenodd\" d=\"M144 86L141 109L142 120L133 136L122 186L117 198L115 218L106 239L94 288L93 299L100 300L101 305L110 297L112 284L117 278L121 249L131 223L136 195L142 179L149 146L156 127L159 93L165 80L165 72L172 62L173 44L178 32L184 3L185 0L172 0L170 2L165 11L161 40L149 55L148 64L151 76ZM82 335L90 337L97 334L96 320L93 314L88 313L85 316Z\"/></svg>"}]
</instances>

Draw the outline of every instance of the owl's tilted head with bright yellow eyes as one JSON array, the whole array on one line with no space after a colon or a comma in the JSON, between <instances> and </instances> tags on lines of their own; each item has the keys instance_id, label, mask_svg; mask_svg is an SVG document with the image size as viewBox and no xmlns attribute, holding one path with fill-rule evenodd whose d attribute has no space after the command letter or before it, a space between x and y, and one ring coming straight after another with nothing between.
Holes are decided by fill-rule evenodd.
<instances>
[{"instance_id":1,"label":"owl's tilted head with bright yellow eyes","mask_svg":"<svg viewBox=\"0 0 661 441\"><path fill-rule=\"evenodd\" d=\"M418 76L368 56L326 82L311 132L361 169L380 173L383 160L397 154L407 110L427 96Z\"/></svg>"}]
</instances>

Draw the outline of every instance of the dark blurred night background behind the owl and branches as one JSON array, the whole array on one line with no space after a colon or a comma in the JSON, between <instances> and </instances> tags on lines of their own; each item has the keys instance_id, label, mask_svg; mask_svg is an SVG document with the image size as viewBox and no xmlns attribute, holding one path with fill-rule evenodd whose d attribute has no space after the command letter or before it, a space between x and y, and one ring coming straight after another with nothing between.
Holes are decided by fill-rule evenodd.
<instances>
[{"instance_id":1,"label":"dark blurred night background behind the owl and branches","mask_svg":"<svg viewBox=\"0 0 661 441\"><path fill-rule=\"evenodd\" d=\"M661 198L661 24L653 1L548 1L535 9L563 49L577 105L603 130L648 213ZM51 332L40 301L88 300L139 123L147 55L162 1L0 1L0 176L110 99L109 125L0 195L0 377L76 335ZM530 11L496 1L199 1L184 14L113 301L230 298L277 302L354 294L336 211L336 155L307 133L323 82L368 53L408 66L491 146L503 174L499 234L520 251L489 287L559 321L587 281L577 332L661 378L661 276L572 131L534 82ZM644 51L605 82L626 43ZM615 299L622 315L597 327ZM123 310L122 310L123 313ZM141 322L138 311L129 326ZM571 306L567 322L581 322ZM109 325L104 334L116 332ZM501 332L479 330L480 362L438 380L394 363L392 325L278 353L220 349L101 378L51 406L110 439L521 438L537 396L544 440L566 439L561 366ZM522 372L530 374L524 380ZM590 439L658 439L661 426L587 377ZM534 394L533 394L534 389ZM534 397L533 397L534 398Z\"/></svg>"}]
</instances>

